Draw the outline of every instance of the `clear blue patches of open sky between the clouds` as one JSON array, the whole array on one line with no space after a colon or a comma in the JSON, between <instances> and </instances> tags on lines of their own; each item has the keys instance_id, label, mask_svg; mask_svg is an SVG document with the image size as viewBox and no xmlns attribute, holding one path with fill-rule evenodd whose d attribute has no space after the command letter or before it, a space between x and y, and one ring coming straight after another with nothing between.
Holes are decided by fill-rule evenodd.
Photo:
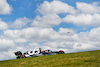
<instances>
[{"instance_id":1,"label":"clear blue patches of open sky between the clouds","mask_svg":"<svg viewBox=\"0 0 100 67\"><path fill-rule=\"evenodd\" d=\"M12 12L8 15L0 15L3 21L5 22L13 22L17 18L27 17L30 19L34 19L36 15L38 15L37 8L44 1L53 1L53 0L7 0L7 2L12 6ZM67 3L74 8L76 8L76 2L85 2L85 3L93 3L99 2L99 0L60 0L64 3ZM59 16L64 17L66 14L60 14ZM90 31L93 27L86 27L87 29L83 30L83 26L77 26L72 23L61 23L60 25L54 26L53 29L58 31L60 27L63 28L74 28L77 32L82 31Z\"/></svg>"}]
</instances>

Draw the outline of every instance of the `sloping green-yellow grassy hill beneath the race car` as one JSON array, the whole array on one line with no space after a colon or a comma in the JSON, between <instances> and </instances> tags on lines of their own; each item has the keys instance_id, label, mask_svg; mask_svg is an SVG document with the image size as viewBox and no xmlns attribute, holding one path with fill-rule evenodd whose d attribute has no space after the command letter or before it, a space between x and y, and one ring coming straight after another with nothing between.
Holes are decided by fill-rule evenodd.
<instances>
[{"instance_id":1,"label":"sloping green-yellow grassy hill beneath the race car","mask_svg":"<svg viewBox=\"0 0 100 67\"><path fill-rule=\"evenodd\" d=\"M0 61L0 67L100 67L100 50Z\"/></svg>"}]
</instances>

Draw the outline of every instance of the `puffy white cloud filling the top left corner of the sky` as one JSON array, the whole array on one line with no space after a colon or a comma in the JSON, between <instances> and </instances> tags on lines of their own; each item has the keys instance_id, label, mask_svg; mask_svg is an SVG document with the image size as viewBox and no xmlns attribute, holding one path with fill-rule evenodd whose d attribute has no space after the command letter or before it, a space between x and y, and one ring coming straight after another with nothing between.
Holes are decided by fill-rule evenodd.
<instances>
[{"instance_id":1,"label":"puffy white cloud filling the top left corner of the sky","mask_svg":"<svg viewBox=\"0 0 100 67\"><path fill-rule=\"evenodd\" d=\"M0 0L0 14L10 14L12 7L7 3L7 0Z\"/></svg>"}]
</instances>

